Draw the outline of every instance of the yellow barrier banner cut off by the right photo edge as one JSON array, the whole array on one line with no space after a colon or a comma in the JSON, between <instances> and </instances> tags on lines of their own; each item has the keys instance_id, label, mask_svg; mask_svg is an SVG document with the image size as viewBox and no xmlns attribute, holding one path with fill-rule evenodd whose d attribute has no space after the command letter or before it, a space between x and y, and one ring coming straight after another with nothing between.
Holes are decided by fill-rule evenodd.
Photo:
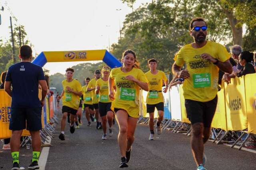
<instances>
[{"instance_id":1,"label":"yellow barrier banner cut off by the right photo edge","mask_svg":"<svg viewBox=\"0 0 256 170\"><path fill-rule=\"evenodd\" d=\"M244 81L248 131L256 134L256 74L247 74Z\"/></svg>"}]
</instances>

